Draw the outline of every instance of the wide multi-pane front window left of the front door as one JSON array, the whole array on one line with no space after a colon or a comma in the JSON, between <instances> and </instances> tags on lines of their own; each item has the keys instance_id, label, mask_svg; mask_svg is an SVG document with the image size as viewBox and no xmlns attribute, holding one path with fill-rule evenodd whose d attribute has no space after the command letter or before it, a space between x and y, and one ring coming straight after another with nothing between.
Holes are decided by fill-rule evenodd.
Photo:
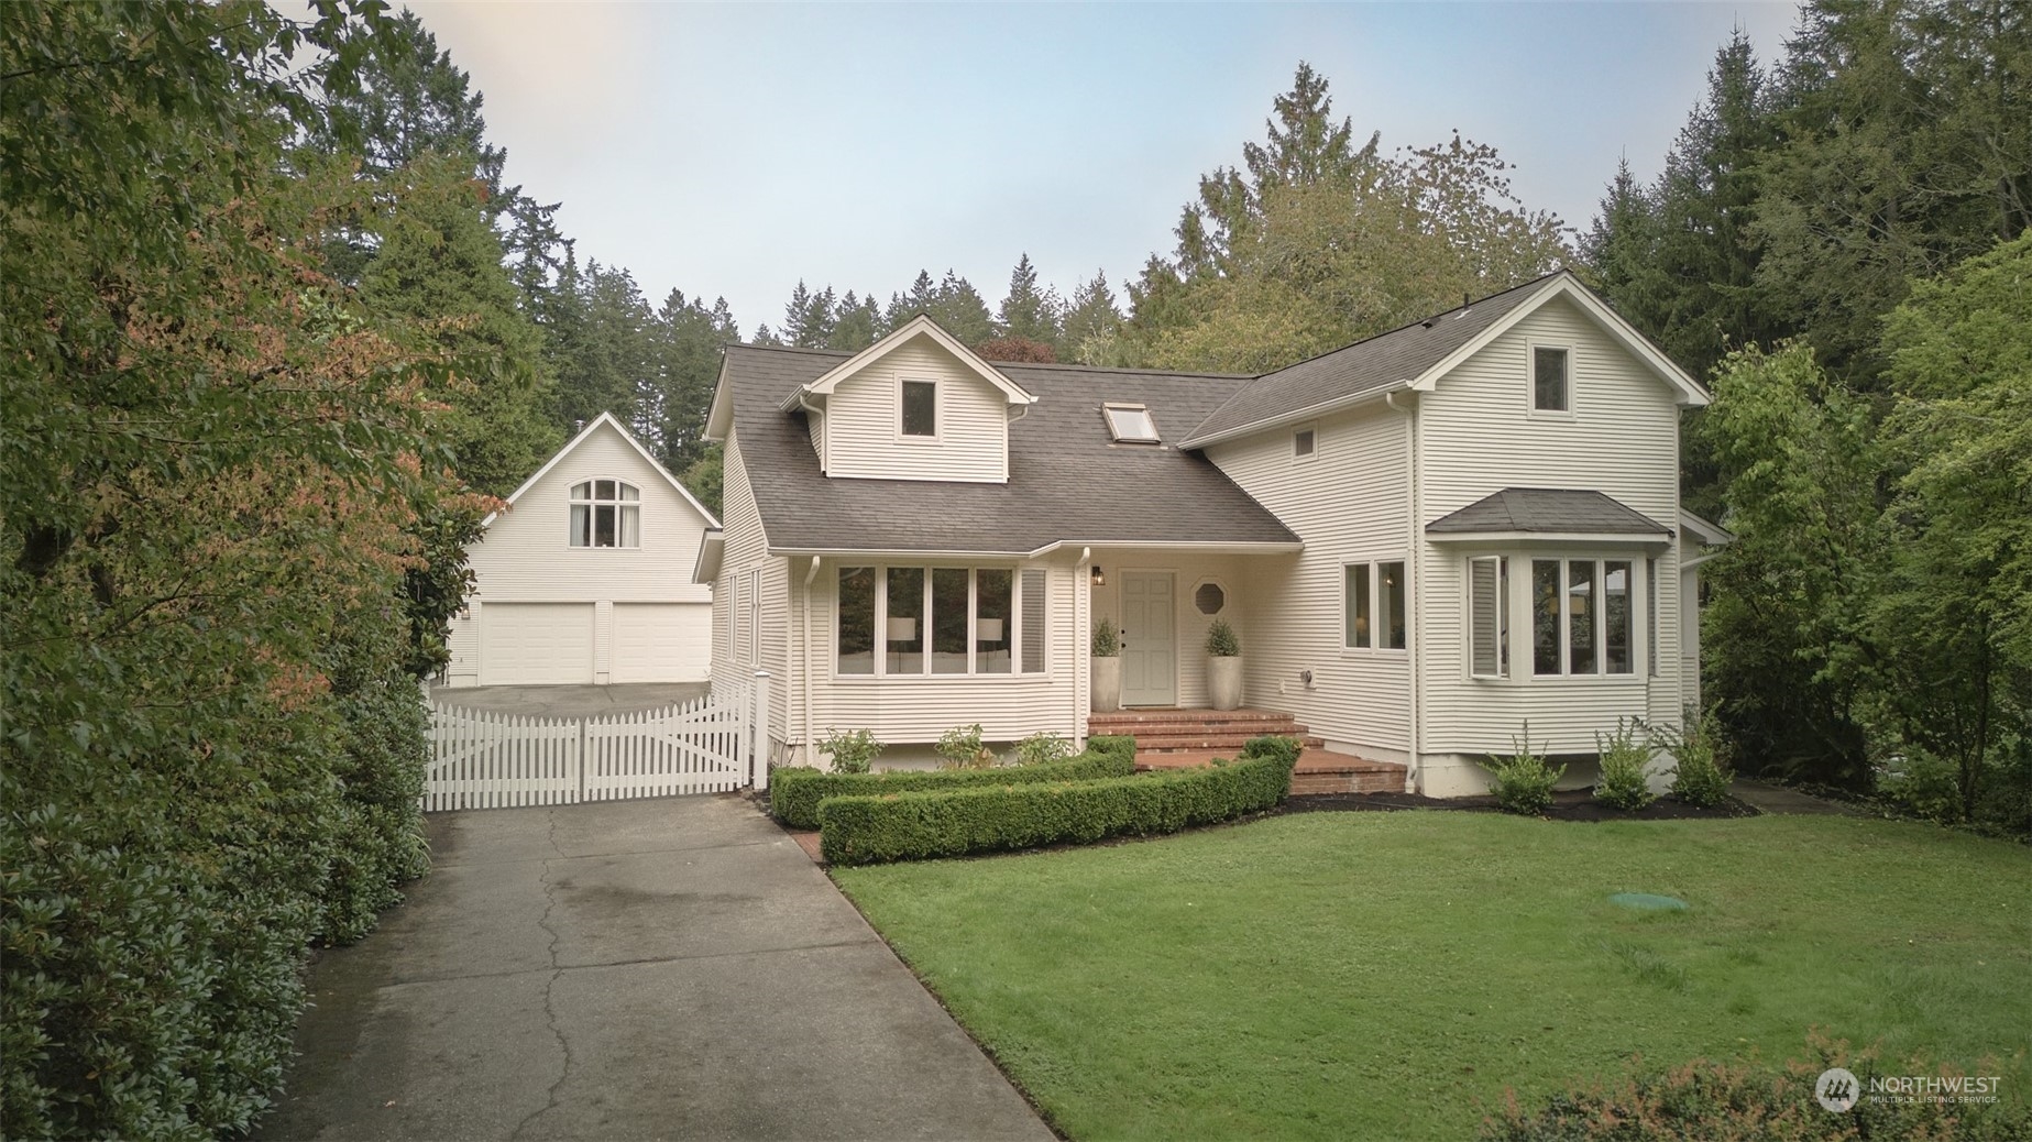
<instances>
[{"instance_id":1,"label":"wide multi-pane front window left of the front door","mask_svg":"<svg viewBox=\"0 0 2032 1142\"><path fill-rule=\"evenodd\" d=\"M835 675L1044 673L1042 569L841 567Z\"/></svg>"}]
</instances>

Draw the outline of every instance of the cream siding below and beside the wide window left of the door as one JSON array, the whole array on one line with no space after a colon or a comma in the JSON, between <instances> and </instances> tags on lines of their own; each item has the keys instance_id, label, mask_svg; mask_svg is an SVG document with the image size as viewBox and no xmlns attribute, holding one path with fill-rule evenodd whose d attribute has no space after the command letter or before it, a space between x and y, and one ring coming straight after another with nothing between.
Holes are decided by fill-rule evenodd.
<instances>
[{"instance_id":1,"label":"cream siding below and beside the wide window left of the door","mask_svg":"<svg viewBox=\"0 0 2032 1142\"><path fill-rule=\"evenodd\" d=\"M853 563L847 563L853 565ZM981 725L988 742L1016 742L1051 732L1067 738L1083 729L1075 652L1087 652L1079 628L1075 571L1063 561L1022 563L1046 575L1046 650L1042 675L835 675L835 601L839 561L827 559L811 583L811 729L823 738L831 729L870 729L886 744L927 744L959 725ZM799 587L805 567L795 575ZM803 715L792 727L803 736Z\"/></svg>"}]
</instances>

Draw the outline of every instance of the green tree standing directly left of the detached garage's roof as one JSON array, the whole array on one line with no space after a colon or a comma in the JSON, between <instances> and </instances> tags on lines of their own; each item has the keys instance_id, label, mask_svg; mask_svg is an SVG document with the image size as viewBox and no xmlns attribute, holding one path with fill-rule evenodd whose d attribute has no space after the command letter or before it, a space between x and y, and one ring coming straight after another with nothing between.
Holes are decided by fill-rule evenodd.
<instances>
[{"instance_id":1,"label":"green tree standing directly left of the detached garage's roof","mask_svg":"<svg viewBox=\"0 0 2032 1142\"><path fill-rule=\"evenodd\" d=\"M441 439L453 469L471 488L506 496L559 443L543 335L502 268L465 158L425 156L400 179L360 297L376 315L408 323L451 366L433 396L449 406Z\"/></svg>"}]
</instances>

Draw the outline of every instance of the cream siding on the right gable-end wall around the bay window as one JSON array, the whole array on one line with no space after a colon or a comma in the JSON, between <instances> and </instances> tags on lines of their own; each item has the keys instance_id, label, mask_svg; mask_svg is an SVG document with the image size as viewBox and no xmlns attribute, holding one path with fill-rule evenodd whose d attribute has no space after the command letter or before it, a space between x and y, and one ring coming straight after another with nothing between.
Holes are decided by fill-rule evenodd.
<instances>
[{"instance_id":1,"label":"cream siding on the right gable-end wall around the bay window","mask_svg":"<svg viewBox=\"0 0 2032 1142\"><path fill-rule=\"evenodd\" d=\"M1571 350L1571 419L1530 413L1532 345ZM1418 516L1422 524L1502 488L1597 490L1662 524L1678 520L1678 408L1672 390L1559 299L1418 396ZM1642 575L1658 557L1658 648L1666 669L1654 679L1640 648L1630 677L1532 677L1528 640L1528 547L1512 555L1512 679L1467 679L1465 551L1424 545L1420 622L1420 750L1479 756L1508 752L1530 721L1546 752L1591 754L1595 732L1617 717L1662 719L1678 709L1678 569L1670 549L1538 549L1571 559L1630 559ZM1646 614L1636 612L1636 640Z\"/></svg>"}]
</instances>

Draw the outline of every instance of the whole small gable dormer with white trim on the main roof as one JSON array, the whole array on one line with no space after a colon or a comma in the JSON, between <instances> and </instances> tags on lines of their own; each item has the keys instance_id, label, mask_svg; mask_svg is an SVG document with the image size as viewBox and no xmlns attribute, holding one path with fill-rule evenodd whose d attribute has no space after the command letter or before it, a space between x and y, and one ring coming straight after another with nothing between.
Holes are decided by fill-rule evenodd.
<instances>
[{"instance_id":1,"label":"whole small gable dormer with white trim on the main roof","mask_svg":"<svg viewBox=\"0 0 2032 1142\"><path fill-rule=\"evenodd\" d=\"M835 480L1004 484L1010 421L1036 396L961 345L931 317L799 386L819 467Z\"/></svg>"}]
</instances>

